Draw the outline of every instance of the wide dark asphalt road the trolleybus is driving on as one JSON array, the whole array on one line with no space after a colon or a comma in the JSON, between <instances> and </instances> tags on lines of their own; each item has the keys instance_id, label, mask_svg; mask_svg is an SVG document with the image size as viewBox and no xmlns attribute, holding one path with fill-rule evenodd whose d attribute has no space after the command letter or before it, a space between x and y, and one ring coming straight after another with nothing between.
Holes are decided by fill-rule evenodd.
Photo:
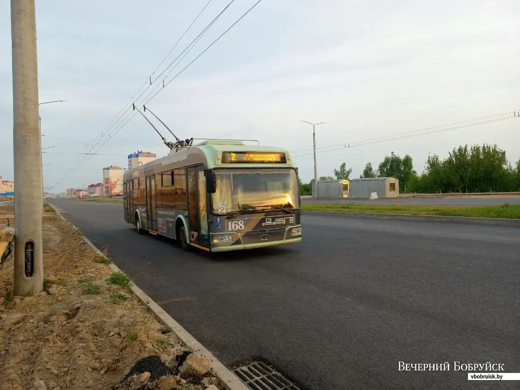
<instances>
[{"instance_id":1,"label":"wide dark asphalt road the trolleybus is driving on","mask_svg":"<svg viewBox=\"0 0 520 390\"><path fill-rule=\"evenodd\" d=\"M453 361L520 372L520 228L306 214L301 244L216 256L137 235L121 204L51 202L228 367L260 356L303 389L518 388Z\"/></svg>"}]
</instances>

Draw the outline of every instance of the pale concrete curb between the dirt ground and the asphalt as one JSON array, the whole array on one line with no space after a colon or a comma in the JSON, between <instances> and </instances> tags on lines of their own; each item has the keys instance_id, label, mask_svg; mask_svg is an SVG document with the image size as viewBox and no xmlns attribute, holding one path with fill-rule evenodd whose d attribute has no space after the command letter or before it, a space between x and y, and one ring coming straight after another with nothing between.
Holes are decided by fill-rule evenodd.
<instances>
[{"instance_id":1,"label":"pale concrete curb between the dirt ground and the asphalt","mask_svg":"<svg viewBox=\"0 0 520 390\"><path fill-rule=\"evenodd\" d=\"M56 208L54 208L56 210ZM56 214L58 214L61 218L66 220L69 224L72 225L72 227L81 233L81 230L75 227L67 218L65 218L61 213L56 210ZM98 248L96 248L96 245L94 245L88 238L81 233L81 236L83 240L92 248L97 254L100 256L105 256ZM109 267L115 271L115 272L121 272L121 269L119 269L118 266L116 266L114 263L110 263ZM152 298L150 298L144 291L142 291L137 285L132 281L132 291L134 294L137 295L139 300L144 303L159 319L159 321L166 327L170 328L172 332L174 332L177 337L181 341L183 341L188 348L193 350L193 352L198 352L202 356L206 357L207 359L210 359L211 361L211 367L213 368L213 372L216 374L218 380L220 381L220 384L223 385L226 390L249 390L248 387L243 384L235 374L233 374L231 371L229 371L226 366L224 366L213 354L207 350L201 343L199 343L195 337L193 337L186 329L184 329L180 324L175 321L164 309L159 306L157 303L155 303Z\"/></svg>"}]
</instances>

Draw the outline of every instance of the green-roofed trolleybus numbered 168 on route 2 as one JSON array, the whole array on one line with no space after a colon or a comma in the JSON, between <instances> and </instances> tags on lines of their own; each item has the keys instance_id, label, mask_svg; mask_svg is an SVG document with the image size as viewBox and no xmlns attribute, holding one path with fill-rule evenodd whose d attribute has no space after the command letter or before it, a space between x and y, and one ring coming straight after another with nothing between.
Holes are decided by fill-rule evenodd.
<instances>
[{"instance_id":1,"label":"green-roofed trolleybus numbered 168 on route 2","mask_svg":"<svg viewBox=\"0 0 520 390\"><path fill-rule=\"evenodd\" d=\"M287 150L238 140L184 146L124 172L124 218L137 232L211 252L302 240L297 168Z\"/></svg>"}]
</instances>

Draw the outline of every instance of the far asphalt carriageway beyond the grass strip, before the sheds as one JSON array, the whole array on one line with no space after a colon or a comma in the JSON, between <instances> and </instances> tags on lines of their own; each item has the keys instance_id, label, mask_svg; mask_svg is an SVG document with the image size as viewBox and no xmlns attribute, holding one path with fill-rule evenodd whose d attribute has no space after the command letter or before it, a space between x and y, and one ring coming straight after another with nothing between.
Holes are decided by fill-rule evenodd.
<instances>
[{"instance_id":1,"label":"far asphalt carriageway beyond the grass strip, before the sheds","mask_svg":"<svg viewBox=\"0 0 520 390\"><path fill-rule=\"evenodd\" d=\"M497 206L504 203L520 204L520 196L474 196L474 197L446 197L446 198L425 198L425 197L400 197L400 198L381 198L376 200L369 199L302 199L302 203L359 203L359 204L380 204L380 205L428 205L428 206Z\"/></svg>"}]
</instances>

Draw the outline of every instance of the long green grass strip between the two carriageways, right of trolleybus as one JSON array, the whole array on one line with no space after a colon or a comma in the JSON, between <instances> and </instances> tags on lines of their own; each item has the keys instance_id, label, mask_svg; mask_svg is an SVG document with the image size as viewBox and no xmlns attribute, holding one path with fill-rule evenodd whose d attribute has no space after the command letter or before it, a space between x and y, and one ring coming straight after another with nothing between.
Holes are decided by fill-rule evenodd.
<instances>
[{"instance_id":1,"label":"long green grass strip between the two carriageways, right of trolleybus","mask_svg":"<svg viewBox=\"0 0 520 390\"><path fill-rule=\"evenodd\" d=\"M520 204L500 206L425 206L304 203L304 211L334 211L341 213L444 215L452 217L484 217L520 219Z\"/></svg>"}]
</instances>

